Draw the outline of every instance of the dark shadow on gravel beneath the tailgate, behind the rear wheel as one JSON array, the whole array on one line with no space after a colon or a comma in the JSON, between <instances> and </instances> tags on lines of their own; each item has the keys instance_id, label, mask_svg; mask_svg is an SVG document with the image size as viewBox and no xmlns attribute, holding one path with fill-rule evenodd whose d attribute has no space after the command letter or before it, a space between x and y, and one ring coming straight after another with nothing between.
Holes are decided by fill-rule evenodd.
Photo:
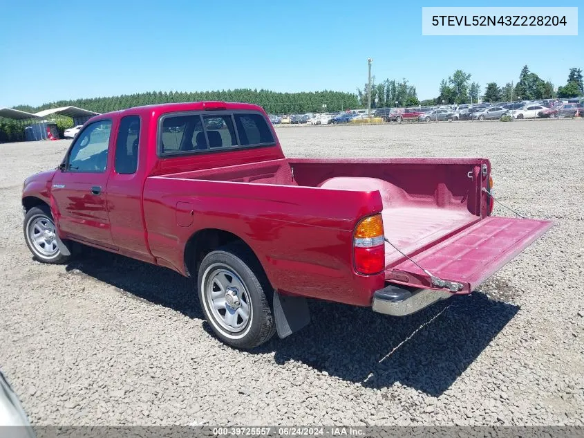
<instances>
[{"instance_id":1,"label":"dark shadow on gravel beneath the tailgate, behind the rear wheel","mask_svg":"<svg viewBox=\"0 0 584 438\"><path fill-rule=\"evenodd\" d=\"M273 349L276 362L300 361L365 387L399 382L431 396L446 391L519 310L480 292L404 318L310 304L311 325L260 347Z\"/></svg>"}]
</instances>

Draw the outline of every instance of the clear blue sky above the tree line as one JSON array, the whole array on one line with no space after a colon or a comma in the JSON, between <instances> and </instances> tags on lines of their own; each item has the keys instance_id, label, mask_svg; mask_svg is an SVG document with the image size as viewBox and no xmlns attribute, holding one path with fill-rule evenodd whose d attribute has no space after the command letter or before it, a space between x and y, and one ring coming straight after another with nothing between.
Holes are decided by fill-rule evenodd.
<instances>
[{"instance_id":1,"label":"clear blue sky above the tree line","mask_svg":"<svg viewBox=\"0 0 584 438\"><path fill-rule=\"evenodd\" d=\"M406 77L420 99L455 69L517 81L523 65L554 84L584 70L578 36L422 36L422 6L554 6L544 1L6 1L0 107L140 91L257 88L355 92ZM555 2L554 2L555 3Z\"/></svg>"}]
</instances>

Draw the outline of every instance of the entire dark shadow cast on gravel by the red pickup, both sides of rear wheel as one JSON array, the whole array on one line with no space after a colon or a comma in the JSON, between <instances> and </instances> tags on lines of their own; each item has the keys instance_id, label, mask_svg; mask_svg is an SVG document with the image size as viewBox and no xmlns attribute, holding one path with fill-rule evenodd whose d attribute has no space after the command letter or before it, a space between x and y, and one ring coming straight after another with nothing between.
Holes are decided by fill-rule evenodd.
<instances>
[{"instance_id":1,"label":"entire dark shadow cast on gravel by the red pickup, both sides of rear wheel","mask_svg":"<svg viewBox=\"0 0 584 438\"><path fill-rule=\"evenodd\" d=\"M169 269L94 249L87 249L66 269L189 318L203 318L194 281ZM498 287L512 289L508 284ZM289 338L274 336L252 353L274 352L276 363L305 363L365 387L399 382L440 396L518 310L518 306L491 300L480 292L439 302L404 318L312 300L308 327ZM203 327L211 333L207 325Z\"/></svg>"}]
</instances>

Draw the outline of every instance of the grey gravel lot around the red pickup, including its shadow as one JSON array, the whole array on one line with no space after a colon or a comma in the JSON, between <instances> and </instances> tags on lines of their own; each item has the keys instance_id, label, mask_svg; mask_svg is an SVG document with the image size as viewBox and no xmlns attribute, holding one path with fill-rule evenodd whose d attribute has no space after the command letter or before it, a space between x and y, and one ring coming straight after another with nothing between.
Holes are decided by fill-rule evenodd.
<instances>
[{"instance_id":1,"label":"grey gravel lot around the red pickup, including its shadow","mask_svg":"<svg viewBox=\"0 0 584 438\"><path fill-rule=\"evenodd\" d=\"M583 423L584 120L278 133L289 156L486 156L498 197L556 227L468 297L406 318L315 301L301 333L238 352L176 273L32 261L21 184L69 142L0 145L0 367L33 423Z\"/></svg>"}]
</instances>

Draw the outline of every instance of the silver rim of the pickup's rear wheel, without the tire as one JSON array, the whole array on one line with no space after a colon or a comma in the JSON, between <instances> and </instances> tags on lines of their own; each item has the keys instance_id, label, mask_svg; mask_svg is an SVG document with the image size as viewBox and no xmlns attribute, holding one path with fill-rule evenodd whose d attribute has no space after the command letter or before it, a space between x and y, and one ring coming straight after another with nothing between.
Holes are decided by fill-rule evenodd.
<instances>
[{"instance_id":1,"label":"silver rim of the pickup's rear wheel, without the tire","mask_svg":"<svg viewBox=\"0 0 584 438\"><path fill-rule=\"evenodd\" d=\"M247 287L227 266L216 264L207 269L205 300L214 320L231 334L244 331L252 319Z\"/></svg>"}]
</instances>

